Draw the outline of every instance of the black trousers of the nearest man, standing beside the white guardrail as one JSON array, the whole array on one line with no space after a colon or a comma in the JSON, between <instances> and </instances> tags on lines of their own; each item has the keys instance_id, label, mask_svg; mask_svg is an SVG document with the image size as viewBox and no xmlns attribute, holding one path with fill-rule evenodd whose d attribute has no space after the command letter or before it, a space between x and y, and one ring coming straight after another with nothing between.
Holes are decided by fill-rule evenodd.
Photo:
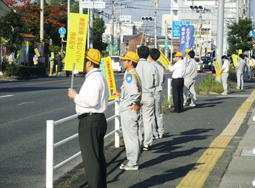
<instances>
[{"instance_id":1,"label":"black trousers of the nearest man, standing beside the white guardrail","mask_svg":"<svg viewBox=\"0 0 255 188\"><path fill-rule=\"evenodd\" d=\"M106 188L104 136L107 122L104 114L88 115L79 122L79 143L90 188Z\"/></svg>"}]
</instances>

